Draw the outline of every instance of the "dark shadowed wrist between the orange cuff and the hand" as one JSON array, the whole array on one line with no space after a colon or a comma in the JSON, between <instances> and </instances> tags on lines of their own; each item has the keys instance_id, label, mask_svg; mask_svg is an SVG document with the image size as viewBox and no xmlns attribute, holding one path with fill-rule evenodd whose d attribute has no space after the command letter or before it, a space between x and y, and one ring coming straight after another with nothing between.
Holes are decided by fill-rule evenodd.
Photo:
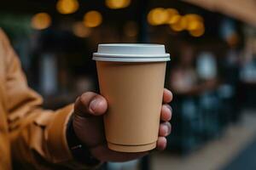
<instances>
[{"instance_id":1,"label":"dark shadowed wrist between the orange cuff and the hand","mask_svg":"<svg viewBox=\"0 0 256 170\"><path fill-rule=\"evenodd\" d=\"M94 156L91 155L89 148L77 137L73 129L73 116L70 117L67 123L67 144L72 153L74 160L80 163L85 163L89 166L96 166L101 163Z\"/></svg>"}]
</instances>

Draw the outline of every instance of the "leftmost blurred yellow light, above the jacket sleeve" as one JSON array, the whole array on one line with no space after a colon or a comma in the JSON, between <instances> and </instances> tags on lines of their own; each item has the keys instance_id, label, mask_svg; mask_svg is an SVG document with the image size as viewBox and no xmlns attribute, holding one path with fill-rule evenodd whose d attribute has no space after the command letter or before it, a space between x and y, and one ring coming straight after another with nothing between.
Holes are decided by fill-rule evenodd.
<instances>
[{"instance_id":1,"label":"leftmost blurred yellow light, above the jacket sleeve","mask_svg":"<svg viewBox=\"0 0 256 170\"><path fill-rule=\"evenodd\" d=\"M48 28L51 24L51 18L47 13L38 13L32 17L31 26L36 30Z\"/></svg>"}]
</instances>

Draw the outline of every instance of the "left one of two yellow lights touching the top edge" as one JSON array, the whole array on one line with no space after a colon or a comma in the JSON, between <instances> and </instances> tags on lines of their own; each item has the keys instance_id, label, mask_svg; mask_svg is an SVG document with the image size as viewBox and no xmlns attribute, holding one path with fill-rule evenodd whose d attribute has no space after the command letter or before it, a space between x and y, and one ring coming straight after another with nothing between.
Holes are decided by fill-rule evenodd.
<instances>
[{"instance_id":1,"label":"left one of two yellow lights touching the top edge","mask_svg":"<svg viewBox=\"0 0 256 170\"><path fill-rule=\"evenodd\" d=\"M73 14L79 9L78 0L59 0L56 8L61 14Z\"/></svg>"}]
</instances>

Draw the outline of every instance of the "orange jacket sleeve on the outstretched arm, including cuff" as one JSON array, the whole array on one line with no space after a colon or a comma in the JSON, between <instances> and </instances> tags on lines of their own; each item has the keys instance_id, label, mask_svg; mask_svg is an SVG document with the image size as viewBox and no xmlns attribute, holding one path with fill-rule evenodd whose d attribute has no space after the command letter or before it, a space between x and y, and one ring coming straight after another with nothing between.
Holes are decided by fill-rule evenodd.
<instances>
[{"instance_id":1,"label":"orange jacket sleeve on the outstretched arm, including cuff","mask_svg":"<svg viewBox=\"0 0 256 170\"><path fill-rule=\"evenodd\" d=\"M41 108L42 98L27 86L20 60L0 29L0 169L85 168L73 161L66 127L73 105Z\"/></svg>"}]
</instances>

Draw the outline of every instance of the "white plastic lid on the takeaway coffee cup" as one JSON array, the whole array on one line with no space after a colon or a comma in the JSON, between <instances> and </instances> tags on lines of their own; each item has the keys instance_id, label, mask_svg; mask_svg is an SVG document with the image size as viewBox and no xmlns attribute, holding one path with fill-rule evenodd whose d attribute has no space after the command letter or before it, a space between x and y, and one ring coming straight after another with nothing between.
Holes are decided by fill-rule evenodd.
<instances>
[{"instance_id":1,"label":"white plastic lid on the takeaway coffee cup","mask_svg":"<svg viewBox=\"0 0 256 170\"><path fill-rule=\"evenodd\" d=\"M94 60L120 62L168 61L164 45L152 43L105 43L98 45Z\"/></svg>"}]
</instances>

